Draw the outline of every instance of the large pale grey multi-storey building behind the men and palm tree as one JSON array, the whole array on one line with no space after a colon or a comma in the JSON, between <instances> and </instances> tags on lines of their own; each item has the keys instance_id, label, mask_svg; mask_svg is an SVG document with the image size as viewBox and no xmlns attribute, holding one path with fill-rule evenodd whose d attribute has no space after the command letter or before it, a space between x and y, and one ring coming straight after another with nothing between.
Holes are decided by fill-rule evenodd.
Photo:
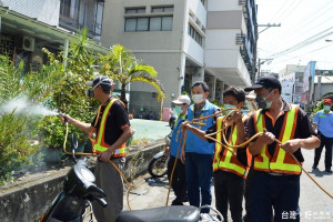
<instances>
[{"instance_id":1,"label":"large pale grey multi-storey building behind the men and palm tree","mask_svg":"<svg viewBox=\"0 0 333 222\"><path fill-rule=\"evenodd\" d=\"M109 0L104 2L101 42L120 43L153 65L164 87L164 108L195 81L222 101L228 85L246 87L254 77L258 32L254 0ZM129 89L128 89L129 90ZM160 113L155 90L130 85L130 112Z\"/></svg>"}]
</instances>

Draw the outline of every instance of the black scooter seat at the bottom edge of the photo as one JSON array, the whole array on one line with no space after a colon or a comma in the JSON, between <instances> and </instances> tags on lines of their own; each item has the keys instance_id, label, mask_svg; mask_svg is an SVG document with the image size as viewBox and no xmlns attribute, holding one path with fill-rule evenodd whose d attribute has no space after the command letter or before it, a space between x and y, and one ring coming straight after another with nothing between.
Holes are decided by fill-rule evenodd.
<instances>
[{"instance_id":1,"label":"black scooter seat at the bottom edge of the photo","mask_svg":"<svg viewBox=\"0 0 333 222\"><path fill-rule=\"evenodd\" d=\"M196 222L200 210L192 205L171 205L148 210L123 211L117 222Z\"/></svg>"}]
</instances>

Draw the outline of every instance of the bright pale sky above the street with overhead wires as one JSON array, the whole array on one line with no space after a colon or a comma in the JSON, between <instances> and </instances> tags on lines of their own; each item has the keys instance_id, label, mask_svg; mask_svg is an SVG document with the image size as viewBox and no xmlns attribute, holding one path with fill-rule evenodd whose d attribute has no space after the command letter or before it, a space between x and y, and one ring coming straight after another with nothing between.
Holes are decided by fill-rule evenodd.
<instances>
[{"instance_id":1,"label":"bright pale sky above the street with overhead wires","mask_svg":"<svg viewBox=\"0 0 333 222\"><path fill-rule=\"evenodd\" d=\"M333 69L333 0L256 3L258 24L281 23L259 34L258 58L273 59L261 70L279 72L286 64L306 65L311 60L316 61L316 69ZM259 32L263 29L259 27Z\"/></svg>"}]
</instances>

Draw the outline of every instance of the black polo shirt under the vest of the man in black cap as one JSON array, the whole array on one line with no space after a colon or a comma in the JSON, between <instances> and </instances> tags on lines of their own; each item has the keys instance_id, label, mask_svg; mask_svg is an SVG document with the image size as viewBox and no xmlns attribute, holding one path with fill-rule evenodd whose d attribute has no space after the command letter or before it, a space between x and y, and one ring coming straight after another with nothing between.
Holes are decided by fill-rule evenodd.
<instances>
[{"instance_id":1,"label":"black polo shirt under the vest of the man in black cap","mask_svg":"<svg viewBox=\"0 0 333 222\"><path fill-rule=\"evenodd\" d=\"M286 115L286 112L291 110L291 104L283 101L283 114L280 114L280 117L276 119L275 123L273 124L272 119L270 118L270 114L268 113L268 110L262 110L261 113L265 115L265 128L269 132L273 133L276 139L279 139L282 125L284 122L284 118ZM262 118L262 115L261 115ZM262 121L261 119L259 121ZM316 133L313 131L311 122L306 115L306 113L299 108L297 111L297 119L296 119L296 129L294 133L293 139L306 139L310 138L311 135L315 135ZM248 138L252 138L256 132L254 128L254 113L251 114L251 117L248 119ZM269 153L271 157L273 157L274 151L276 148L276 142L273 142L272 144L268 145ZM296 150L294 153L295 158L300 161L303 162L304 158L302 155L301 149Z\"/></svg>"}]
</instances>

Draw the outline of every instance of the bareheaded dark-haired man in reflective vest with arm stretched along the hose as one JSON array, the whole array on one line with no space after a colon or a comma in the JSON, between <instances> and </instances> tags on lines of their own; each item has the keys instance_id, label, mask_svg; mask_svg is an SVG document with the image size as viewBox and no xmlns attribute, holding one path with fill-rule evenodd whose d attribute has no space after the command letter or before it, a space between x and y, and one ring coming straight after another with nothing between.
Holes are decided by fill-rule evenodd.
<instances>
[{"instance_id":1,"label":"bareheaded dark-haired man in reflective vest with arm stretched along the hose","mask_svg":"<svg viewBox=\"0 0 333 222\"><path fill-rule=\"evenodd\" d=\"M210 143L215 143L215 152L213 160L213 176L215 188L215 204L218 211L223 216L223 221L228 220L228 205L230 205L231 218L234 222L242 222L242 202L244 195L245 179L249 172L249 161L251 161L250 154L246 153L246 148L225 148L222 133L225 134L225 140L229 144L238 145L245 142L244 121L246 115L243 115L241 108L245 102L245 92L242 89L230 87L223 92L224 109L234 108L238 111L233 111L226 119L225 115L232 112L226 110L225 115L219 117L216 123L206 131L199 130L190 124L183 124L182 127L190 130L202 140L206 140ZM224 124L224 132L221 132L222 124ZM215 133L218 132L218 133ZM212 133L212 134L211 134ZM210 135L211 134L211 135ZM211 137L206 138L206 135ZM222 219L221 219L222 220Z\"/></svg>"}]
</instances>

